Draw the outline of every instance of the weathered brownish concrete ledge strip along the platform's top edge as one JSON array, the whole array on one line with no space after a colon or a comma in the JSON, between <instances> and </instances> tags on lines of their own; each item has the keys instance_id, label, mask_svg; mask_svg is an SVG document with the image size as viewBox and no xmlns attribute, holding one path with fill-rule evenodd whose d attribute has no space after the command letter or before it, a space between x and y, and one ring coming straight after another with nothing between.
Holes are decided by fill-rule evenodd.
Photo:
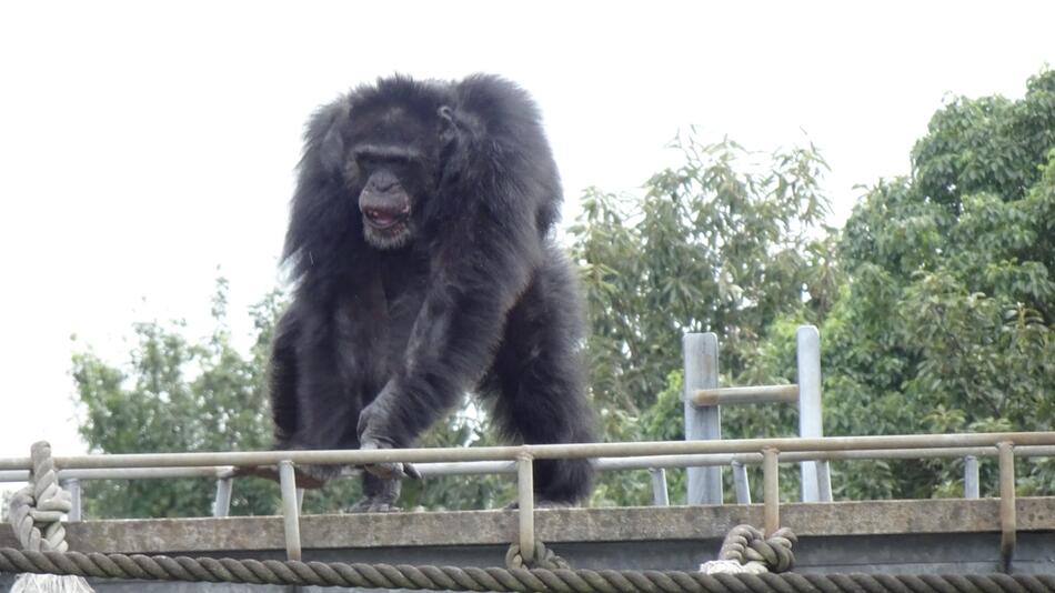
<instances>
[{"instance_id":1,"label":"weathered brownish concrete ledge strip along the platform's top edge","mask_svg":"<svg viewBox=\"0 0 1055 593\"><path fill-rule=\"evenodd\" d=\"M1055 497L1017 501L1018 531L1055 531ZM734 525L762 524L762 505L560 509L536 512L546 543L720 540ZM977 533L999 531L995 499L784 504L781 524L800 536ZM309 515L301 517L305 549L371 549L508 544L513 511ZM284 550L277 516L86 521L67 527L71 549L172 554ZM17 547L0 530L0 546Z\"/></svg>"}]
</instances>

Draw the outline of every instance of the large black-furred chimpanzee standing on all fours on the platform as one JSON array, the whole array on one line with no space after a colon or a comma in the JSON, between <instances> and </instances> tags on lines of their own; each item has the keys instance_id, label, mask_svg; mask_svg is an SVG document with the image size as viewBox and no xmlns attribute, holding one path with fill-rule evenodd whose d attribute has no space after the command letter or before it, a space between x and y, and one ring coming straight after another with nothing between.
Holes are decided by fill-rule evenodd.
<instances>
[{"instance_id":1,"label":"large black-furred chimpanzee standing on all fours on the platform","mask_svg":"<svg viewBox=\"0 0 1055 593\"><path fill-rule=\"evenodd\" d=\"M305 141L277 445L409 446L469 390L513 441L594 441L581 299L550 237L561 185L528 94L490 76L383 79L320 110ZM535 463L541 501L581 500L591 478L585 460ZM398 494L372 483L384 500L366 507Z\"/></svg>"}]
</instances>

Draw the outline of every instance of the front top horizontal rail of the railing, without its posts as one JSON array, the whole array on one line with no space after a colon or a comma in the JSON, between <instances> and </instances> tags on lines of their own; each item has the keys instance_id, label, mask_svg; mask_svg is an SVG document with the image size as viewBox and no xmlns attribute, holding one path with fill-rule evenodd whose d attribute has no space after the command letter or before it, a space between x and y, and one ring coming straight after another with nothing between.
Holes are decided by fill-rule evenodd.
<instances>
[{"instance_id":1,"label":"front top horizontal rail of the railing, without its posts","mask_svg":"<svg viewBox=\"0 0 1055 593\"><path fill-rule=\"evenodd\" d=\"M211 465L275 465L293 463L364 465L395 462L513 461L520 454L535 459L583 459L635 455L686 455L702 453L753 453L773 448L796 451L860 451L891 449L944 449L995 446L1008 441L1016 446L1055 445L1055 432L992 432L981 434L906 434L895 436L825 436L822 439L742 439L724 441L656 441L631 443L573 443L520 446L470 446L446 449L373 449L343 451L253 451L223 453L138 453L57 456L63 469L180 468ZM0 471L28 470L29 458L0 459Z\"/></svg>"}]
</instances>

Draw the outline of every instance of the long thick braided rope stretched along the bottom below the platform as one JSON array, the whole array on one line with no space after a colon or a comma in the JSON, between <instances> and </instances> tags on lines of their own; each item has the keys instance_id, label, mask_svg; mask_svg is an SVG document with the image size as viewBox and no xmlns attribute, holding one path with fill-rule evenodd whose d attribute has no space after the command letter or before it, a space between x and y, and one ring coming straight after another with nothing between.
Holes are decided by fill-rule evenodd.
<instances>
[{"instance_id":1,"label":"long thick braided rope stretched along the bottom below the platform","mask_svg":"<svg viewBox=\"0 0 1055 593\"><path fill-rule=\"evenodd\" d=\"M315 586L560 593L1053 593L1048 575L703 574L679 571L459 569L191 559L0 549L0 573Z\"/></svg>"}]
</instances>

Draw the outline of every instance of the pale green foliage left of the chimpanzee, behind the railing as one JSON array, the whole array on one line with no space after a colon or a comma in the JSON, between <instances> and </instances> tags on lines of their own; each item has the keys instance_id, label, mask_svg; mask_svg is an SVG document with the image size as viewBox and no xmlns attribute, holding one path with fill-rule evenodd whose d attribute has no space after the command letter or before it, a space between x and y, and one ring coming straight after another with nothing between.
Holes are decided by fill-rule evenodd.
<instances>
[{"instance_id":1,"label":"pale green foliage left of the chimpanzee, behind the railing","mask_svg":"<svg viewBox=\"0 0 1055 593\"><path fill-rule=\"evenodd\" d=\"M159 453L250 451L270 445L263 391L268 344L278 294L251 311L255 336L243 356L227 326L227 282L218 281L215 329L199 342L182 322L134 325L138 343L124 368L111 366L90 349L73 355L73 380L83 409L81 436L92 452ZM195 516L209 514L212 480L90 481L86 514L94 517ZM241 480L232 514L271 514L278 488Z\"/></svg>"}]
</instances>

